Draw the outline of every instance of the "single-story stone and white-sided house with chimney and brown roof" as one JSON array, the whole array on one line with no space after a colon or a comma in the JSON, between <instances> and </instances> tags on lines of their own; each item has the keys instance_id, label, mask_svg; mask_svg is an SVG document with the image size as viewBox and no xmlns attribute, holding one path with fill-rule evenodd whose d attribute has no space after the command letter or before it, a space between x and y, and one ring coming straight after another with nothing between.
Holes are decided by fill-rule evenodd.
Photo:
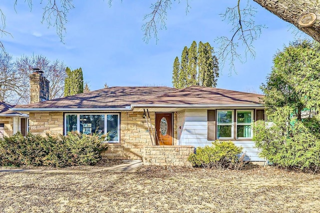
<instances>
[{"instance_id":1,"label":"single-story stone and white-sided house with chimney and brown roof","mask_svg":"<svg viewBox=\"0 0 320 213\"><path fill-rule=\"evenodd\" d=\"M36 94L43 88L37 86L40 81L31 83L37 99L44 92ZM204 86L114 86L43 102L31 97L33 103L12 110L28 113L32 133L107 133L106 158L180 165L194 147L219 139L241 145L251 161L263 161L253 147L251 129L254 120L264 119L262 96Z\"/></svg>"}]
</instances>

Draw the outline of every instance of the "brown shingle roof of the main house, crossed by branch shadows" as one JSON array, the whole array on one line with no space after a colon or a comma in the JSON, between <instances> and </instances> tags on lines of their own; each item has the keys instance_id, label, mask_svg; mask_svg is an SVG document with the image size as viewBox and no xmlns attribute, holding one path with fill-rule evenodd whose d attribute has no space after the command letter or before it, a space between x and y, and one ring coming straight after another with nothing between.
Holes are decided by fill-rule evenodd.
<instances>
[{"instance_id":1,"label":"brown shingle roof of the main house, crossed by branch shadows","mask_svg":"<svg viewBox=\"0 0 320 213\"><path fill-rule=\"evenodd\" d=\"M258 104L261 94L190 86L114 86L15 108L123 108L131 104Z\"/></svg>"}]
</instances>

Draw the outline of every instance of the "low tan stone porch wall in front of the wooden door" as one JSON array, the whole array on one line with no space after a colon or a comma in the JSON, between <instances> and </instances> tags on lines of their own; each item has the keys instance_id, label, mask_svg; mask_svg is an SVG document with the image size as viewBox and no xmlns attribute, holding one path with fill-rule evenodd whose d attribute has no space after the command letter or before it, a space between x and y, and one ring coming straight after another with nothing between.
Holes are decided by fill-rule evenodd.
<instances>
[{"instance_id":1,"label":"low tan stone porch wall in front of the wooden door","mask_svg":"<svg viewBox=\"0 0 320 213\"><path fill-rule=\"evenodd\" d=\"M193 153L194 146L189 145L156 145L145 146L143 153L144 165L179 165L190 166L187 160Z\"/></svg>"}]
</instances>

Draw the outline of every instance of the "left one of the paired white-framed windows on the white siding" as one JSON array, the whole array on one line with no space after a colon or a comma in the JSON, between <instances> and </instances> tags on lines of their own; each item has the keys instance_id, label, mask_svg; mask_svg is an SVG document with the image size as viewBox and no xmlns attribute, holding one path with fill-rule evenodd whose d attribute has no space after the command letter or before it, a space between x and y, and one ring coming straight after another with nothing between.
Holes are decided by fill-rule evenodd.
<instances>
[{"instance_id":1,"label":"left one of the paired white-framed windows on the white siding","mask_svg":"<svg viewBox=\"0 0 320 213\"><path fill-rule=\"evenodd\" d=\"M233 138L233 110L217 110L217 138Z\"/></svg>"}]
</instances>

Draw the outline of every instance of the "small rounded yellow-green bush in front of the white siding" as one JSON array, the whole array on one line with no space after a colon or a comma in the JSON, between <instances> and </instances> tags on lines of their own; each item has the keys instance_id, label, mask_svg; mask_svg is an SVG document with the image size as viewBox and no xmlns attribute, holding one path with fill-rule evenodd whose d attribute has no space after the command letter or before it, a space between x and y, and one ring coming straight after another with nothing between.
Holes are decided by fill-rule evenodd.
<instances>
[{"instance_id":1,"label":"small rounded yellow-green bush in front of the white siding","mask_svg":"<svg viewBox=\"0 0 320 213\"><path fill-rule=\"evenodd\" d=\"M195 167L204 168L235 168L243 165L240 153L242 147L234 145L231 141L214 141L211 146L197 147L196 152L188 157L188 161Z\"/></svg>"}]
</instances>

